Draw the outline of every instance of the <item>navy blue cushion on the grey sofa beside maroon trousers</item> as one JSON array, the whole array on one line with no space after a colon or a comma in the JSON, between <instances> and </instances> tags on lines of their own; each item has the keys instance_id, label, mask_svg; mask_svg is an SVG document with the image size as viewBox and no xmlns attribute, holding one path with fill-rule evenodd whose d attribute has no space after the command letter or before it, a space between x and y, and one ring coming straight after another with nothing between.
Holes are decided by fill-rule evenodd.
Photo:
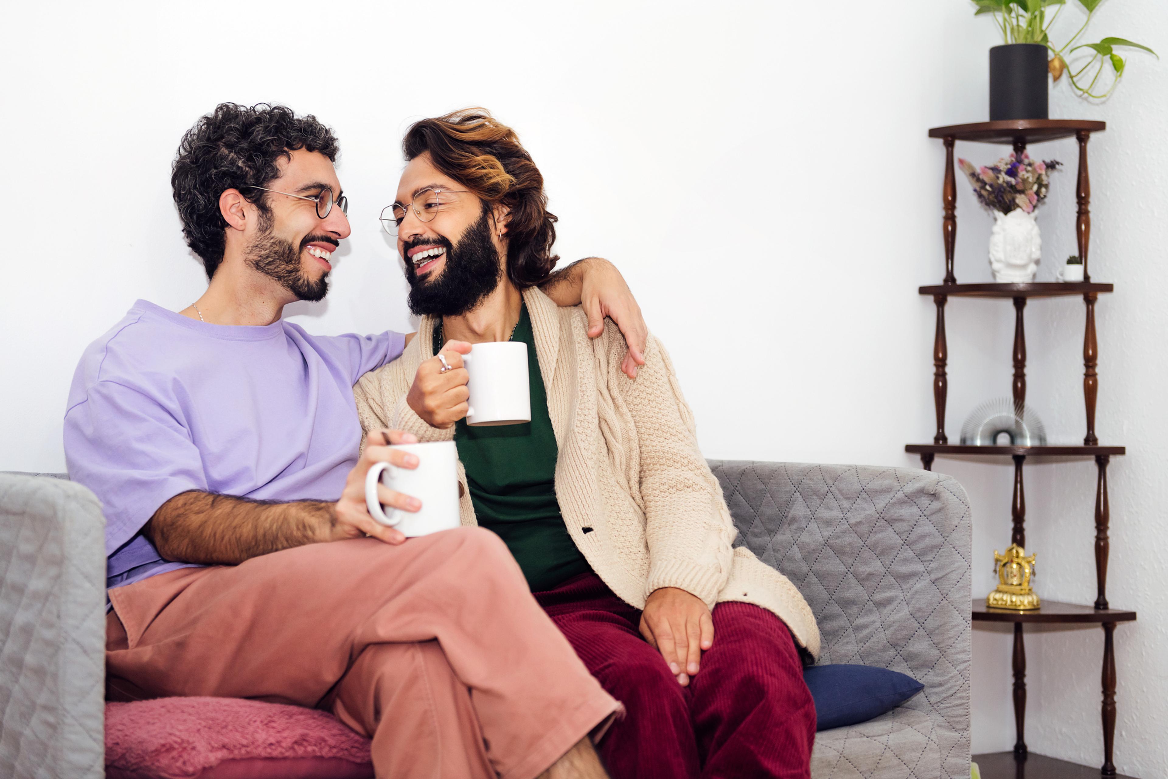
<instances>
[{"instance_id":1,"label":"navy blue cushion on the grey sofa beside maroon trousers","mask_svg":"<svg viewBox=\"0 0 1168 779\"><path fill-rule=\"evenodd\" d=\"M804 681L815 698L815 730L868 722L925 688L911 676L871 666L812 666Z\"/></svg>"}]
</instances>

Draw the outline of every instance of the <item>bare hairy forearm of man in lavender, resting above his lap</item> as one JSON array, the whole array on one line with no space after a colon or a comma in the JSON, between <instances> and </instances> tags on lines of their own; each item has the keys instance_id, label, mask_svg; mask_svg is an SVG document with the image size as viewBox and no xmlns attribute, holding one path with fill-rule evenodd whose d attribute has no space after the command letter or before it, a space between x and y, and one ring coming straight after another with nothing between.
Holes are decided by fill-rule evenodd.
<instances>
[{"instance_id":1,"label":"bare hairy forearm of man in lavender, resting above his lap","mask_svg":"<svg viewBox=\"0 0 1168 779\"><path fill-rule=\"evenodd\" d=\"M324 541L336 521L326 501L276 503L186 492L162 503L142 533L165 559L236 565Z\"/></svg>"}]
</instances>

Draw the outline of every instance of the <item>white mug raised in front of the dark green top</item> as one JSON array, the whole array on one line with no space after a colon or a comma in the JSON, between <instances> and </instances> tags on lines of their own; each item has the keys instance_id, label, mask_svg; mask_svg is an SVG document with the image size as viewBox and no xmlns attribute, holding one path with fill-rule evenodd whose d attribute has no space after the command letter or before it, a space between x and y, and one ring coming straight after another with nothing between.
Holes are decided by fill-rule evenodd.
<instances>
[{"instance_id":1,"label":"white mug raised in front of the dark green top","mask_svg":"<svg viewBox=\"0 0 1168 779\"><path fill-rule=\"evenodd\" d=\"M531 422L531 385L527 345L522 341L475 343L463 355L471 391L468 425L517 425Z\"/></svg>"}]
</instances>

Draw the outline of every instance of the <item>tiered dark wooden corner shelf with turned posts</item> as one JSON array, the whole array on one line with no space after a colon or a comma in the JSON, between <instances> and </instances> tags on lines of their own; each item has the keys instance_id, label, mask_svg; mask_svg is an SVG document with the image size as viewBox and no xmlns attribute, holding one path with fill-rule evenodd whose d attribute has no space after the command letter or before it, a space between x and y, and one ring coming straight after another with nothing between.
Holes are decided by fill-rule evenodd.
<instances>
[{"instance_id":1,"label":"tiered dark wooden corner shelf with turned posts","mask_svg":"<svg viewBox=\"0 0 1168 779\"><path fill-rule=\"evenodd\" d=\"M1016 740L1010 760L1010 772L1000 775L1018 779L1031 775L1035 779L1069 779L1071 774L1063 766L1070 763L1054 760L1042 756L1033 756L1027 763L1026 745L1026 646L1022 639L1024 624L1087 622L1098 624L1104 633L1103 662L1103 747L1104 764L1093 775L1115 777L1115 765L1112 754L1115 742L1115 649L1114 631L1120 622L1135 620L1135 612L1113 610L1107 603L1107 561L1111 554L1111 506L1107 496L1107 465L1112 457L1122 455L1122 446L1100 446L1096 436L1096 401L1099 395L1099 343L1096 338L1096 304L1100 294L1114 291L1112 284L1099 284L1091 280L1091 172L1087 165L1087 145L1091 134L1103 132L1107 125L1103 121L1080 119L1024 119L1011 121L979 121L975 124L950 125L933 127L930 138L939 138L945 145L945 175L941 185L941 238L945 248L945 277L939 285L919 287L919 293L932 295L937 307L936 331L933 335L933 406L937 415L937 432L932 444L909 444L904 450L920 455L920 464L931 471L933 460L941 455L974 457L1010 457L1014 460L1014 498L1010 506L1013 533L1010 542L1026 547L1026 492L1022 482L1022 468L1027 458L1075 458L1093 457L1098 479L1096 481L1094 500L1094 563L1096 586L1098 597L1093 606L1077 606L1055 600L1048 600L1035 612L1011 612L987 608L985 600L973 603L973 619L976 621L1013 622L1014 625L1014 725ZM953 273L954 251L957 248L957 166L954 147L957 141L976 141L985 144L1009 144L1015 154L1021 155L1028 144L1037 144L1059 138L1075 138L1078 145L1079 159L1075 183L1075 200L1078 208L1075 214L1075 239L1078 256L1083 260L1083 281L1033 281L1028 284L958 284ZM1070 166L1068 166L1070 167ZM1086 412L1086 436L1083 445L1049 446L962 446L950 444L945 432L945 404L948 396L948 342L945 334L945 306L950 298L997 298L1014 301L1014 348L1011 350L1014 374L1010 389L1015 406L1026 403L1026 327L1024 312L1030 298L1082 297L1086 309L1086 321L1083 331L1083 404ZM1000 756L985 756L996 759ZM1004 766L1004 763L1002 764ZM1016 768L1016 772L1014 771ZM1084 771L1089 771L1084 768ZM997 775L982 766L986 779ZM1077 775L1077 774L1076 774ZM1087 775L1087 774L1083 774Z\"/></svg>"}]
</instances>

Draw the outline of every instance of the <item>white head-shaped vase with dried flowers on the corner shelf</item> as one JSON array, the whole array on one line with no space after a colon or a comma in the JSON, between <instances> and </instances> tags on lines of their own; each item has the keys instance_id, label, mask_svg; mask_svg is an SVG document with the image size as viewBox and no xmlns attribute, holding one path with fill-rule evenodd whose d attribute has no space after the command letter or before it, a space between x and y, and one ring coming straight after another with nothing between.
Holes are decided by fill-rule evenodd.
<instances>
[{"instance_id":1,"label":"white head-shaped vase with dried flowers on the corner shelf","mask_svg":"<svg viewBox=\"0 0 1168 779\"><path fill-rule=\"evenodd\" d=\"M961 171L973 185L978 201L994 214L989 235L989 267L1000 284L1034 280L1042 259L1042 234L1037 209L1050 190L1050 173L1058 160L1035 161L1022 152L1011 152L994 165L974 167L960 160Z\"/></svg>"}]
</instances>

